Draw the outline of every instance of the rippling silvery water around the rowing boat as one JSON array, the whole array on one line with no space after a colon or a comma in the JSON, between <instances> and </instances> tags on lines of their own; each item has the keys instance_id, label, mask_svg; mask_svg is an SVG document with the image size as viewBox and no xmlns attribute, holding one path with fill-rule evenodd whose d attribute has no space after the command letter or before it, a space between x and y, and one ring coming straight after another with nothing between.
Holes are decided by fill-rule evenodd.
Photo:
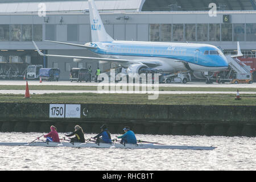
<instances>
[{"instance_id":1,"label":"rippling silvery water around the rowing boat","mask_svg":"<svg viewBox=\"0 0 256 182\"><path fill-rule=\"evenodd\" d=\"M31 142L42 133L0 133L0 142ZM85 134L85 138L95 134ZM60 138L64 137L59 133ZM114 137L115 134L112 134ZM256 170L256 138L136 135L169 145L214 146L213 151L0 146L1 171Z\"/></svg>"}]
</instances>

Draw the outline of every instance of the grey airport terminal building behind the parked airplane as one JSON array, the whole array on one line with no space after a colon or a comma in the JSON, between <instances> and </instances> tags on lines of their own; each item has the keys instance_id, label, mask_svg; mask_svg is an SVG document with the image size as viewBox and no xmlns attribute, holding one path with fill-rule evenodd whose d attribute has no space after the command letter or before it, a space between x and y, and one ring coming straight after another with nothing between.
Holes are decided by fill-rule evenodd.
<instances>
[{"instance_id":1,"label":"grey airport terminal building behind the parked airplane","mask_svg":"<svg viewBox=\"0 0 256 182\"><path fill-rule=\"evenodd\" d=\"M115 40L207 43L221 47L226 53L234 53L239 41L245 58L255 59L255 0L95 2L106 31ZM0 0L0 75L7 67L15 69L11 66L14 64L60 68L60 80L68 80L71 68L91 65L95 73L97 67L110 67L95 61L76 63L68 58L42 57L35 51L32 40L47 54L96 56L84 48L44 42L90 42L87 1ZM255 71L256 61L249 65Z\"/></svg>"}]
</instances>

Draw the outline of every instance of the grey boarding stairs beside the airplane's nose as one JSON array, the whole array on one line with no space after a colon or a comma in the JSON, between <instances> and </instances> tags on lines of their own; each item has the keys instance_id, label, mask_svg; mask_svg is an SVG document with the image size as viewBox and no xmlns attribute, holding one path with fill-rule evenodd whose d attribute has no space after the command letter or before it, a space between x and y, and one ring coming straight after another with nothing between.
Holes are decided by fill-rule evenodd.
<instances>
[{"instance_id":1,"label":"grey boarding stairs beside the airplane's nose","mask_svg":"<svg viewBox=\"0 0 256 182\"><path fill-rule=\"evenodd\" d=\"M237 73L250 73L250 66L242 63L237 57L231 57L232 55L225 55L228 59L230 67Z\"/></svg>"}]
</instances>

